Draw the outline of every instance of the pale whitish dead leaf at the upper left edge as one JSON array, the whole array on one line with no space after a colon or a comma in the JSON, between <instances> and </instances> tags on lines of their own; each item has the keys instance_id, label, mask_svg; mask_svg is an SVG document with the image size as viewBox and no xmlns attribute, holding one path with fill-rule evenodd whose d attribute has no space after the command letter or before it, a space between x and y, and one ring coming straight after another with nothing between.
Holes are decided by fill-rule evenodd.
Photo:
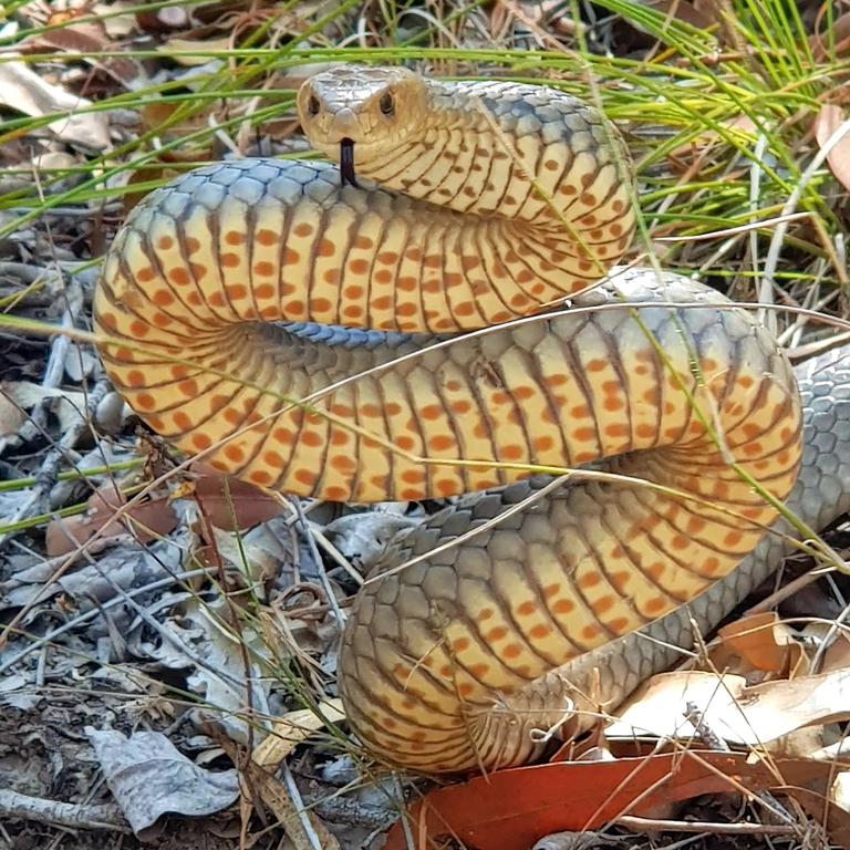
<instances>
[{"instance_id":1,"label":"pale whitish dead leaf at the upper left edge","mask_svg":"<svg viewBox=\"0 0 850 850\"><path fill-rule=\"evenodd\" d=\"M80 112L92 102L45 82L24 62L0 64L0 104L32 117L60 113L62 117L48 125L58 138L93 151L110 147L106 114Z\"/></svg>"}]
</instances>

